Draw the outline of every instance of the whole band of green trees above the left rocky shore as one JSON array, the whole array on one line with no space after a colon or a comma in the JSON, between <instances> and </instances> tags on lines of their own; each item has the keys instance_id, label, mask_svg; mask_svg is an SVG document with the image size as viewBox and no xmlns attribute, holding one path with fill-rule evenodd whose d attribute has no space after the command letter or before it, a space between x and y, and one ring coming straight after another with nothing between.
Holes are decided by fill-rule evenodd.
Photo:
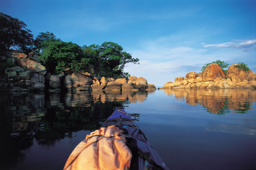
<instances>
[{"instance_id":1,"label":"whole band of green trees above the left rocky shore","mask_svg":"<svg viewBox=\"0 0 256 170\"><path fill-rule=\"evenodd\" d=\"M104 42L102 45L83 45L63 42L53 33L41 32L36 39L26 24L0 12L0 50L20 50L40 55L50 73L79 72L94 69L101 76L123 75L126 63L139 64L138 58L123 50L121 45ZM118 76L116 76L118 77Z\"/></svg>"}]
</instances>

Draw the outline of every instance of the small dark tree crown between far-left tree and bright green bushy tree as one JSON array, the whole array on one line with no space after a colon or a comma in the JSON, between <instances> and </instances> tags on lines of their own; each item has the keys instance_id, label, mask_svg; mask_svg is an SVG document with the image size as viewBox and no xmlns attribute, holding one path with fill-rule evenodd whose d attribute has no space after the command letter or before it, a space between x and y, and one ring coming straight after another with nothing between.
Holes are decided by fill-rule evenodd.
<instances>
[{"instance_id":1,"label":"small dark tree crown between far-left tree and bright green bushy tree","mask_svg":"<svg viewBox=\"0 0 256 170\"><path fill-rule=\"evenodd\" d=\"M57 39L56 36L54 36L54 34L52 32L40 32L38 36L36 36L36 39L34 40L34 51L39 54L42 50L42 43L44 43L44 41L46 40L50 40L50 39L54 39L54 40L58 40L60 41L60 39Z\"/></svg>"}]
</instances>

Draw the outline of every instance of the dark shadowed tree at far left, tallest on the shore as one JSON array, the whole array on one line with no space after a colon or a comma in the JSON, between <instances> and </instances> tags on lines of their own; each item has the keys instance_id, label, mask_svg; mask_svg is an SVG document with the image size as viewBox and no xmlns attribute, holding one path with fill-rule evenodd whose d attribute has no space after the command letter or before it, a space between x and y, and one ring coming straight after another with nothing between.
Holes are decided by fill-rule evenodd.
<instances>
[{"instance_id":1,"label":"dark shadowed tree at far left, tallest on the shore","mask_svg":"<svg viewBox=\"0 0 256 170\"><path fill-rule=\"evenodd\" d=\"M32 51L33 37L26 24L0 12L0 48L19 49L24 53Z\"/></svg>"}]
</instances>

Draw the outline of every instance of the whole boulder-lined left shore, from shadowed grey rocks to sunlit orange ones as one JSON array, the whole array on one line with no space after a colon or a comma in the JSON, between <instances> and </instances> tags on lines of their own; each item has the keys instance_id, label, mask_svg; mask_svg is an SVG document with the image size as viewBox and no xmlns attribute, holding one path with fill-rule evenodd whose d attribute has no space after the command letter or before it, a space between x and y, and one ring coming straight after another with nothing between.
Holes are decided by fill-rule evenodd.
<instances>
[{"instance_id":1,"label":"whole boulder-lined left shore, from shadowed grey rocks to sunlit orange ones","mask_svg":"<svg viewBox=\"0 0 256 170\"><path fill-rule=\"evenodd\" d=\"M156 86L148 84L143 77L130 76L114 79L96 76L91 73L59 73L51 75L40 63L39 56L33 52L28 55L20 52L8 52L0 56L1 62L11 62L0 77L1 91L151 91Z\"/></svg>"}]
</instances>

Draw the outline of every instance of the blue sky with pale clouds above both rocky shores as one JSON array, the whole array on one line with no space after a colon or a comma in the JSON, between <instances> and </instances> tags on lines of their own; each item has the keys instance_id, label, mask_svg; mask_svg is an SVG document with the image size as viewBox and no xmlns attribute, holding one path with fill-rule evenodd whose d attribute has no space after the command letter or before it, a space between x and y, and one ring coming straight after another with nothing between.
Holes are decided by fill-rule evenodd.
<instances>
[{"instance_id":1,"label":"blue sky with pale clouds above both rocky shores","mask_svg":"<svg viewBox=\"0 0 256 170\"><path fill-rule=\"evenodd\" d=\"M22 20L35 37L49 31L80 46L118 43L140 59L124 71L156 86L216 59L256 72L256 0L0 0L0 11Z\"/></svg>"}]
</instances>

